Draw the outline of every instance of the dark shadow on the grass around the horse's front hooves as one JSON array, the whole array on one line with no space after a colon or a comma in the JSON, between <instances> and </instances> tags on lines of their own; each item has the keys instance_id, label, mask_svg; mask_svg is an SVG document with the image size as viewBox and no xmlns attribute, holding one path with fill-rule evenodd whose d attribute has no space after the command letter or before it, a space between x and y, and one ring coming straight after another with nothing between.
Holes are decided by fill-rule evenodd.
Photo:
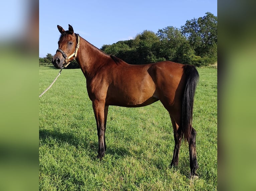
<instances>
[{"instance_id":1,"label":"dark shadow on the grass around the horse's front hooves","mask_svg":"<svg viewBox=\"0 0 256 191\"><path fill-rule=\"evenodd\" d=\"M49 138L53 139L54 142L63 143L66 142L69 145L75 146L77 149L84 149L85 152L94 160L96 159L96 152L98 152L98 141L88 141L82 139L75 135L72 132L59 132L57 130L47 130L41 129L39 130L39 140L42 141L43 144L54 145L54 143L49 143ZM87 151L86 151L87 150ZM107 151L105 155L111 154L116 159L123 158L125 156L130 156L130 152L123 147L110 147L107 145Z\"/></svg>"}]
</instances>

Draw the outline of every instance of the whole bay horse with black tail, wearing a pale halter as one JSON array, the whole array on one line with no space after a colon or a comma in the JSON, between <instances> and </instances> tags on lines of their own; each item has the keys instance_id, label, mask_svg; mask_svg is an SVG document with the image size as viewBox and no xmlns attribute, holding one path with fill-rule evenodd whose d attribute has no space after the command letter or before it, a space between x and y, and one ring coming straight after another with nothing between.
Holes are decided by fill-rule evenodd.
<instances>
[{"instance_id":1,"label":"whole bay horse with black tail, wearing a pale halter","mask_svg":"<svg viewBox=\"0 0 256 191\"><path fill-rule=\"evenodd\" d=\"M101 160L107 148L105 131L109 105L142 107L160 100L169 112L174 133L170 165L178 165L183 138L189 146L190 177L198 178L196 130L192 127L194 95L199 80L197 69L170 61L130 65L103 53L74 33L71 25L67 31L59 25L57 28L61 35L52 64L63 68L76 59L81 67L97 124L97 157Z\"/></svg>"}]
</instances>

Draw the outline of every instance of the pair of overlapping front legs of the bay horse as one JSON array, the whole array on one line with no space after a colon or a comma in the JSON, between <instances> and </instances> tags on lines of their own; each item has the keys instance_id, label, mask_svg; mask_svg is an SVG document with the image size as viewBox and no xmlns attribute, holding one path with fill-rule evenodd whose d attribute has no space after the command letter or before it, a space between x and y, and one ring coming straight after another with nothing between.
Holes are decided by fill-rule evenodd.
<instances>
[{"instance_id":1,"label":"pair of overlapping front legs of the bay horse","mask_svg":"<svg viewBox=\"0 0 256 191\"><path fill-rule=\"evenodd\" d=\"M101 158L105 155L105 102L93 101L93 110L97 124L97 132L98 132L98 141L99 141L99 150L98 150L98 158Z\"/></svg>"}]
</instances>

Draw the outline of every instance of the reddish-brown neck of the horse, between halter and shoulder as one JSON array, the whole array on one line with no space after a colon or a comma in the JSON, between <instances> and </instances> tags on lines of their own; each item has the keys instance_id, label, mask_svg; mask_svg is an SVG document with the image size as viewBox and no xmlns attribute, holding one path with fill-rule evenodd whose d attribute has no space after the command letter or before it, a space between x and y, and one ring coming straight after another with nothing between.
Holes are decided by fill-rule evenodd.
<instances>
[{"instance_id":1,"label":"reddish-brown neck of the horse, between halter and shoulder","mask_svg":"<svg viewBox=\"0 0 256 191\"><path fill-rule=\"evenodd\" d=\"M108 55L80 37L80 47L76 60L86 79L95 76L97 70L102 67L104 63L103 59L108 57Z\"/></svg>"}]
</instances>

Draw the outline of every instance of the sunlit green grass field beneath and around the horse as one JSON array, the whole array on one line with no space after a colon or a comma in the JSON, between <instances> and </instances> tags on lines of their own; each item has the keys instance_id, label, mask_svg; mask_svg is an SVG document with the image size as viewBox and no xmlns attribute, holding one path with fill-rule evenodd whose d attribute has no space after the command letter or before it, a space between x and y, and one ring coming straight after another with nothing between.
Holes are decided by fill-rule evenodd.
<instances>
[{"instance_id":1,"label":"sunlit green grass field beneath and around the horse","mask_svg":"<svg viewBox=\"0 0 256 191\"><path fill-rule=\"evenodd\" d=\"M188 178L188 145L170 167L174 138L160 101L109 106L107 151L96 159L96 122L80 69L63 70L39 98L39 190L217 190L217 70L198 68L193 126L199 179ZM59 70L39 67L39 94Z\"/></svg>"}]
</instances>

